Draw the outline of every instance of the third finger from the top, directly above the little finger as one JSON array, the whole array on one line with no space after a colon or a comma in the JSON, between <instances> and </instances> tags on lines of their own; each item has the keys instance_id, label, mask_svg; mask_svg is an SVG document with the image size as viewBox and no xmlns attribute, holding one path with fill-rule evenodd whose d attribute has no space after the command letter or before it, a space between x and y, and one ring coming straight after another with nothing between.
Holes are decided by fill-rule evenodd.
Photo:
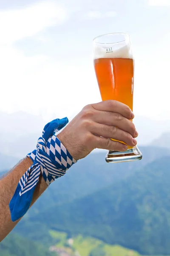
<instances>
[{"instance_id":1,"label":"third finger from the top, directly above the little finger","mask_svg":"<svg viewBox=\"0 0 170 256\"><path fill-rule=\"evenodd\" d=\"M122 131L115 126L94 123L90 130L94 135L119 140L132 147L137 144L137 141L133 139L131 134Z\"/></svg>"}]
</instances>

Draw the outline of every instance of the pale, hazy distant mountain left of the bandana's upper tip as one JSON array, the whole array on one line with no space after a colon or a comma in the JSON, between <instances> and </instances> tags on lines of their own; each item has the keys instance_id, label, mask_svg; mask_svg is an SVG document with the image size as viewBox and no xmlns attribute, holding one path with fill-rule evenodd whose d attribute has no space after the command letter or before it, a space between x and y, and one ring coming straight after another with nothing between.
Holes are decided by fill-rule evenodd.
<instances>
[{"instance_id":1,"label":"pale, hazy distant mountain left of the bandana's upper tip","mask_svg":"<svg viewBox=\"0 0 170 256\"><path fill-rule=\"evenodd\" d=\"M34 150L46 124L42 116L23 111L11 114L0 111L0 120L0 154L17 159Z\"/></svg>"}]
</instances>

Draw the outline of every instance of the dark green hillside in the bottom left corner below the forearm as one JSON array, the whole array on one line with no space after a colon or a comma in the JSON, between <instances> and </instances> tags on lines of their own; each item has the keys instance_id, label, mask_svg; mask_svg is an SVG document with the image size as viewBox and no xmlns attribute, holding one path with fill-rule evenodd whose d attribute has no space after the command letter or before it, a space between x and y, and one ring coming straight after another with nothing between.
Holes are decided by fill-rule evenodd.
<instances>
[{"instance_id":1,"label":"dark green hillside in the bottom left corner below the forearm","mask_svg":"<svg viewBox=\"0 0 170 256\"><path fill-rule=\"evenodd\" d=\"M1 256L56 256L48 248L11 233L0 243Z\"/></svg>"}]
</instances>

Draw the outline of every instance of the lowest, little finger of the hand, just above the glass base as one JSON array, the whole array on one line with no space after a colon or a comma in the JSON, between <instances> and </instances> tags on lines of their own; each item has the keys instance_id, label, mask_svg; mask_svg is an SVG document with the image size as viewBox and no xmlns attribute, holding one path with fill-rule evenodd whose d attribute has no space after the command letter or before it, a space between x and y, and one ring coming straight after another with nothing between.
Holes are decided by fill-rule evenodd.
<instances>
[{"instance_id":1,"label":"lowest, little finger of the hand, just above the glass base","mask_svg":"<svg viewBox=\"0 0 170 256\"><path fill-rule=\"evenodd\" d=\"M120 143L119 141L113 141L110 139L97 137L94 138L95 148L102 148L116 151L126 151L127 145Z\"/></svg>"}]
</instances>

